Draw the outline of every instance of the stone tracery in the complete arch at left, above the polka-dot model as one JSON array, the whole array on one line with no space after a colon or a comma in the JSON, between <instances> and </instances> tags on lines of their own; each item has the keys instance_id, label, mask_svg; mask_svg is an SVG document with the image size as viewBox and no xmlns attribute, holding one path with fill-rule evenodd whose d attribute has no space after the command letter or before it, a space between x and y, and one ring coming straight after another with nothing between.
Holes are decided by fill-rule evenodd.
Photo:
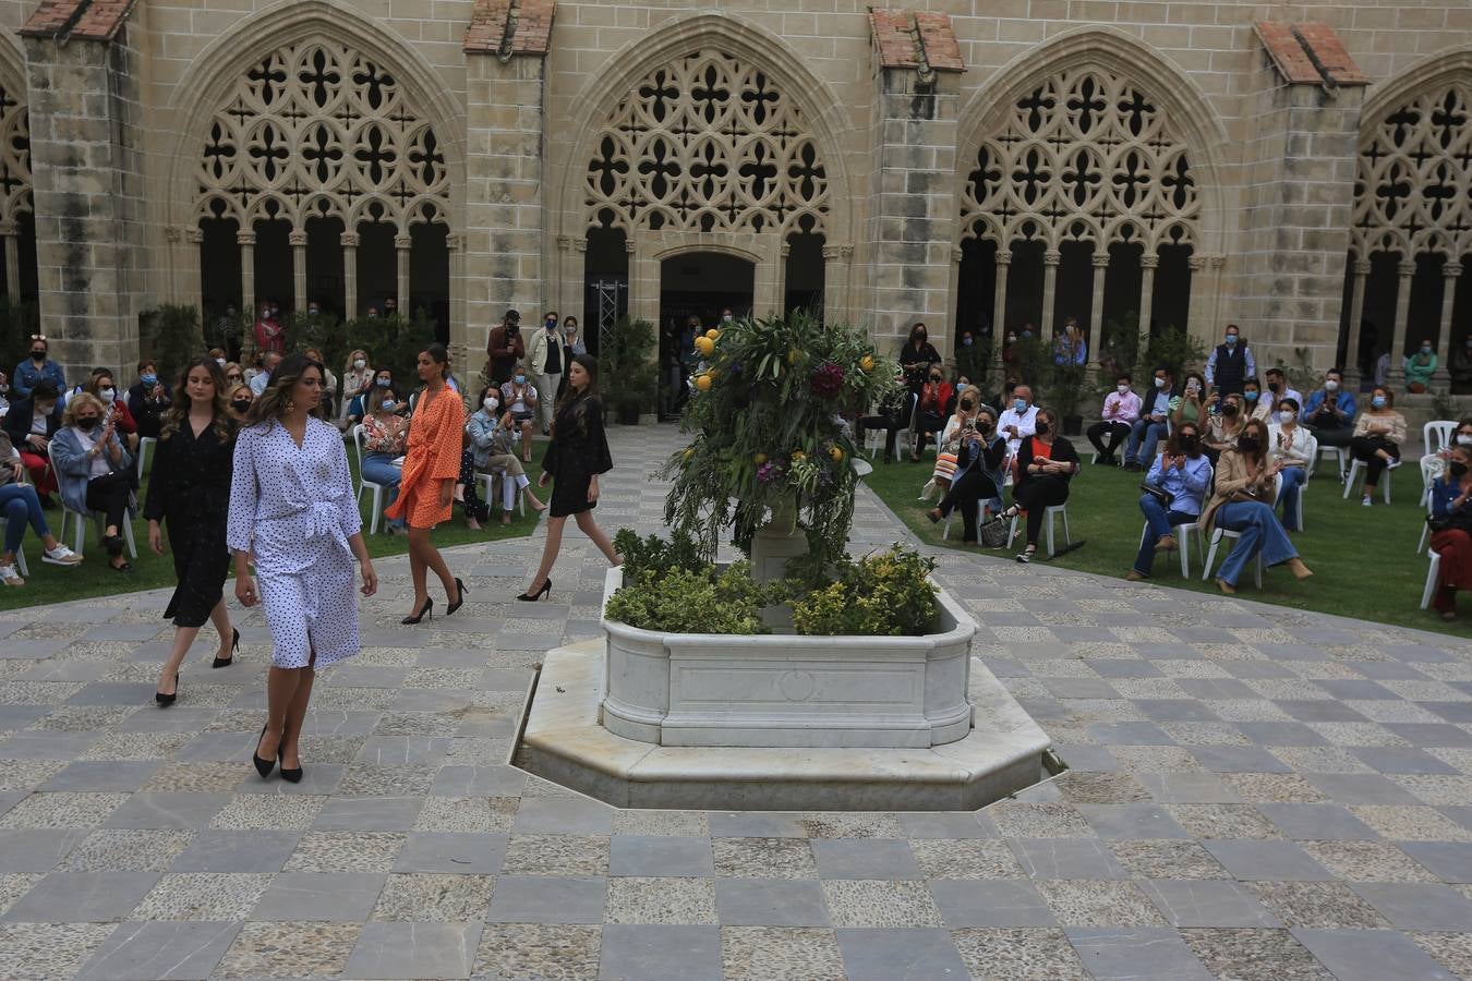
<instances>
[{"instance_id":1,"label":"stone tracery in the complete arch at left, above the polka-dot model","mask_svg":"<svg viewBox=\"0 0 1472 981\"><path fill-rule=\"evenodd\" d=\"M339 218L346 228L446 224L439 138L399 81L342 46L272 51L215 113L199 166L200 218Z\"/></svg>"}]
</instances>

